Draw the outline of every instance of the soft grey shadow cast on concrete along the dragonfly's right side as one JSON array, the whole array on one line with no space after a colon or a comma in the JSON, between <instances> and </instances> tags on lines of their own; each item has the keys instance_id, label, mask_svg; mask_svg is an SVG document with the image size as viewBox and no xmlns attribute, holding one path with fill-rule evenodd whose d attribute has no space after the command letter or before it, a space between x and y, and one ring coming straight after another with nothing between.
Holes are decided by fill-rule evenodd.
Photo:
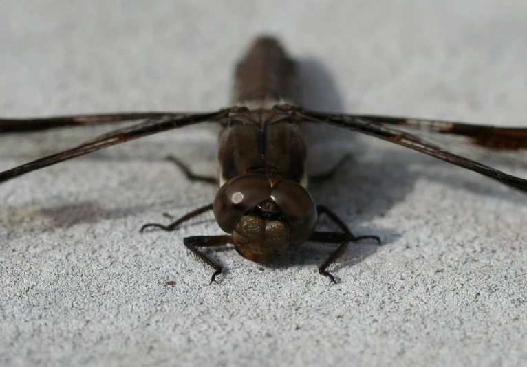
<instances>
[{"instance_id":1,"label":"soft grey shadow cast on concrete along the dragonfly's right side","mask_svg":"<svg viewBox=\"0 0 527 367\"><path fill-rule=\"evenodd\" d=\"M341 93L338 93L334 78L327 67L314 58L299 59L302 100L315 109L343 111ZM352 230L358 236L374 233L387 245L400 237L395 228L371 228L361 225L383 216L392 205L405 199L413 190L418 174L410 173L405 157L394 157L392 153L380 155L378 162L359 164L361 155L368 149L365 139L353 133L343 134L332 126L304 124L310 152L308 172L314 176L324 173L327 167L334 166L344 156L350 159L339 168L333 177L310 182L309 188L316 203L334 208L347 223L352 222ZM389 144L387 144L389 145ZM411 155L411 153L405 153ZM403 154L403 155L405 155ZM383 192L379 195L378 192ZM346 214L342 214L345 212ZM329 223L320 221L321 227ZM328 227L335 230L334 227ZM350 243L342 260L336 267L352 265L364 260L376 252L376 243ZM225 252L232 247L207 250L207 256L214 260L226 261ZM281 256L271 263L259 264L268 269L282 269L291 265L316 265L327 257L327 247L306 243L299 248L289 249L288 256ZM352 260L349 260L352 259ZM226 271L228 273L228 270Z\"/></svg>"}]
</instances>

